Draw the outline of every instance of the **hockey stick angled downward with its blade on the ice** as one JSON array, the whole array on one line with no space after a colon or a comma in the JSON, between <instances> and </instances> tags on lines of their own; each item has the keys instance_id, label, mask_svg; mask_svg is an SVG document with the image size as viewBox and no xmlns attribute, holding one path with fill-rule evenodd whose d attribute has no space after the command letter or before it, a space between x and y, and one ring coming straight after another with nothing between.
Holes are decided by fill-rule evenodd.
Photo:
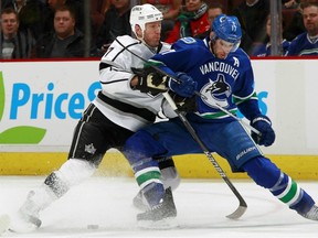
<instances>
[{"instance_id":1,"label":"hockey stick angled downward with its blade on the ice","mask_svg":"<svg viewBox=\"0 0 318 238\"><path fill-rule=\"evenodd\" d=\"M195 130L193 129L193 127L190 125L190 122L188 121L188 119L186 118L186 116L183 113L181 113L178 110L178 107L176 106L173 99L170 97L170 95L166 91L163 93L165 98L167 99L168 104L172 107L173 111L178 115L178 117L181 119L181 121L183 122L184 127L187 128L187 130L191 133L191 136L193 137L193 139L197 141L197 143L201 147L202 151L204 152L204 154L208 156L209 161L213 164L214 169L218 171L218 173L221 175L221 177L223 178L223 181L229 185L229 187L231 188L231 191L235 194L235 196L237 197L240 205L236 208L236 210L230 215L227 215L227 218L231 219L237 219L240 218L246 210L247 208L247 204L245 203L244 198L241 196L241 194L237 192L237 190L235 188L235 186L231 183L231 181L229 180L229 177L226 176L226 174L223 172L222 167L219 165L218 161L213 158L212 153L209 151L209 149L206 148L206 145L203 143L203 141L198 137Z\"/></svg>"}]
</instances>

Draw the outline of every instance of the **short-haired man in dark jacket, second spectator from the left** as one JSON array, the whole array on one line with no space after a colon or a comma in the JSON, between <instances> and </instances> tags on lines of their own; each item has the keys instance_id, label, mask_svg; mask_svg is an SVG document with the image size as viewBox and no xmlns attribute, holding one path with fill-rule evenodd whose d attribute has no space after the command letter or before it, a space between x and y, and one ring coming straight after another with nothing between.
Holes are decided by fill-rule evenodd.
<instances>
[{"instance_id":1,"label":"short-haired man in dark jacket, second spectator from the left","mask_svg":"<svg viewBox=\"0 0 318 238\"><path fill-rule=\"evenodd\" d=\"M85 56L84 34L75 28L75 13L67 6L55 10L54 31L45 33L36 44L38 57ZM92 56L94 51L92 51Z\"/></svg>"}]
</instances>

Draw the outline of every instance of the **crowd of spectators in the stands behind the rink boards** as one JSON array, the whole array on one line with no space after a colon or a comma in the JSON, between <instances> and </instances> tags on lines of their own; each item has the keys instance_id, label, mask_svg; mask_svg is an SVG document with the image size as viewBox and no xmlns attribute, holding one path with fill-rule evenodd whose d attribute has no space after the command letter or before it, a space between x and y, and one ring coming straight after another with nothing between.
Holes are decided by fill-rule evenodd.
<instances>
[{"instance_id":1,"label":"crowd of spectators in the stands behind the rink boards","mask_svg":"<svg viewBox=\"0 0 318 238\"><path fill-rule=\"evenodd\" d=\"M161 40L205 37L216 15L237 17L241 47L271 56L271 0L0 0L0 58L100 57L118 35L131 34L135 4L163 13ZM318 54L318 0L282 0L282 55ZM85 21L88 19L89 21Z\"/></svg>"}]
</instances>

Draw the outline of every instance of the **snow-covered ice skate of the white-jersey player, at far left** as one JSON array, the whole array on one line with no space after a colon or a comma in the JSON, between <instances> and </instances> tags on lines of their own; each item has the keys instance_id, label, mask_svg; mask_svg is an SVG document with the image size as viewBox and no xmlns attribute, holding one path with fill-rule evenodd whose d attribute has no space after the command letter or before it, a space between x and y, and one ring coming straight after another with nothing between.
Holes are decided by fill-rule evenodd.
<instances>
[{"instance_id":1,"label":"snow-covered ice skate of the white-jersey player, at far left","mask_svg":"<svg viewBox=\"0 0 318 238\"><path fill-rule=\"evenodd\" d=\"M39 218L40 209L30 199L34 192L30 192L28 199L24 202L22 207L14 214L11 215L11 223L9 230L12 232L31 232L36 230L42 221Z\"/></svg>"}]
</instances>

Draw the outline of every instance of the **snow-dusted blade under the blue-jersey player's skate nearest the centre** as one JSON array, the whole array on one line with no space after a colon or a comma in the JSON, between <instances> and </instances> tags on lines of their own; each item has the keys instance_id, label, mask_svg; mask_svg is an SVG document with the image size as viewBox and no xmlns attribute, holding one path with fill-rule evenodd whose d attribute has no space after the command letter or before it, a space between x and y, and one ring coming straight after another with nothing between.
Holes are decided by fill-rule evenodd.
<instances>
[{"instance_id":1,"label":"snow-dusted blade under the blue-jersey player's skate nearest the centre","mask_svg":"<svg viewBox=\"0 0 318 238\"><path fill-rule=\"evenodd\" d=\"M138 227L141 229L173 229L179 226L176 217L169 217L161 220L138 220Z\"/></svg>"}]
</instances>

